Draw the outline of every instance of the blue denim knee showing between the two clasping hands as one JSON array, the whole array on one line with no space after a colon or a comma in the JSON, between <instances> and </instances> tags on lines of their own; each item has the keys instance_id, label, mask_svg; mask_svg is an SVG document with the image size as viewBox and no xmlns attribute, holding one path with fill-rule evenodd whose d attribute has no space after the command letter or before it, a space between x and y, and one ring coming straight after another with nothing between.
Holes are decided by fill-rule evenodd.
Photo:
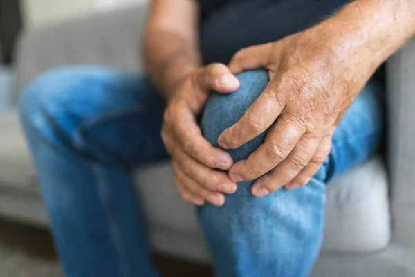
<instances>
[{"instance_id":1,"label":"blue denim knee showing between the two clasping hands","mask_svg":"<svg viewBox=\"0 0 415 277\"><path fill-rule=\"evenodd\" d=\"M213 93L201 117L203 136L216 147L219 147L217 139L223 130L237 123L269 82L265 70L246 71L237 78L240 82L239 89L230 94ZM246 159L264 141L265 134L266 132L236 150L229 150L232 159Z\"/></svg>"}]
</instances>

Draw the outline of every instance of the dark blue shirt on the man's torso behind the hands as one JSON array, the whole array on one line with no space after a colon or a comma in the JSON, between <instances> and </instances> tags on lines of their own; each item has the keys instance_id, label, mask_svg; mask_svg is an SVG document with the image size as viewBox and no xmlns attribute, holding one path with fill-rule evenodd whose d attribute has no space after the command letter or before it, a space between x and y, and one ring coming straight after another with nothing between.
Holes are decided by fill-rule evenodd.
<instances>
[{"instance_id":1,"label":"dark blue shirt on the man's torso behind the hands","mask_svg":"<svg viewBox=\"0 0 415 277\"><path fill-rule=\"evenodd\" d=\"M228 63L241 48L273 42L317 24L347 0L196 0L203 61Z\"/></svg>"}]
</instances>

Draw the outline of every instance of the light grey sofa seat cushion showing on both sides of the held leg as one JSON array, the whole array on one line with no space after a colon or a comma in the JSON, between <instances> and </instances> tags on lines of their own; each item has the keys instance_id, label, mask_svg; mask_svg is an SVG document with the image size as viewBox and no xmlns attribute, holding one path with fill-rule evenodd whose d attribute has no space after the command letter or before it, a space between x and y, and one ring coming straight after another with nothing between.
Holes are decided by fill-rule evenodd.
<instances>
[{"instance_id":1,"label":"light grey sofa seat cushion showing on both sides of the held leg","mask_svg":"<svg viewBox=\"0 0 415 277\"><path fill-rule=\"evenodd\" d=\"M183 202L176 192L169 163L140 168L135 175L155 240L177 237L156 247L176 252L175 247L183 246L175 244L180 244L178 240L186 234L194 241L193 249L181 249L176 254L184 252L185 256L201 259L207 256L201 250L203 240L194 207ZM322 252L377 251L387 246L389 238L387 177L382 159L374 157L329 184Z\"/></svg>"}]
</instances>

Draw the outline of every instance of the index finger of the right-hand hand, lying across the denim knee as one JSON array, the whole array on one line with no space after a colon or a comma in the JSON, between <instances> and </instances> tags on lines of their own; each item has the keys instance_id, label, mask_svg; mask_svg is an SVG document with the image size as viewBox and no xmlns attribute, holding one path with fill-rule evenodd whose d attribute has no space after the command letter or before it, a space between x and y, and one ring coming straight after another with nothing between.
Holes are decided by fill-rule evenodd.
<instances>
[{"instance_id":1,"label":"index finger of the right-hand hand, lying across the denim knee","mask_svg":"<svg viewBox=\"0 0 415 277\"><path fill-rule=\"evenodd\" d=\"M225 149L239 148L270 127L284 107L283 92L278 91L276 82L269 82L241 119L222 132L218 138L219 145Z\"/></svg>"}]
</instances>

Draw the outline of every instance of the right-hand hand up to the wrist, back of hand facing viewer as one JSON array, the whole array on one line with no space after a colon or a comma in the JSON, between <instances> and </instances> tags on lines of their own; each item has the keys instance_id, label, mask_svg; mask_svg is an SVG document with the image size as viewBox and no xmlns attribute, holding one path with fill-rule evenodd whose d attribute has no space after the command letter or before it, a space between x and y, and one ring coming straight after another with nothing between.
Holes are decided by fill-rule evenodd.
<instances>
[{"instance_id":1,"label":"right-hand hand up to the wrist, back of hand facing viewer","mask_svg":"<svg viewBox=\"0 0 415 277\"><path fill-rule=\"evenodd\" d=\"M264 175L252 186L257 197L308 183L330 152L335 126L374 71L357 51L353 42L337 42L315 27L234 55L232 73L264 68L270 82L219 145L238 148L272 127L264 144L232 166L232 180Z\"/></svg>"}]
</instances>

